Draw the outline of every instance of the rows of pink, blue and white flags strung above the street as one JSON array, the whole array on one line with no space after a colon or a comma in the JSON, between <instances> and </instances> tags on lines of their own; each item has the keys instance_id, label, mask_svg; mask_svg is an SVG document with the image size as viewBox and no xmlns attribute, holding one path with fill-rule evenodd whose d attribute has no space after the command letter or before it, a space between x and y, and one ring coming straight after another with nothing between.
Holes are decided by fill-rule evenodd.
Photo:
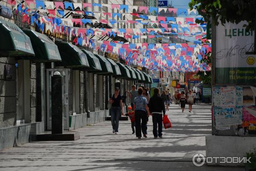
<instances>
[{"instance_id":1,"label":"rows of pink, blue and white flags strung above the street","mask_svg":"<svg viewBox=\"0 0 256 171\"><path fill-rule=\"evenodd\" d=\"M10 2L10 1L9 1ZM134 64L151 70L165 70L165 71L209 71L211 66L202 62L202 59L207 58L208 53L211 53L210 40L204 38L206 24L198 25L195 23L195 18L191 17L160 17L150 15L140 15L131 13L134 9L145 14L150 14L153 11L160 12L162 10L172 12L174 14L185 16L192 12L196 14L197 11L187 9L171 9L171 8L156 8L144 6L128 6L118 4L97 4L97 3L62 3L49 2L41 0L25 0L27 6L34 6L35 10L29 9L23 4L16 4L17 12L23 14L23 22L31 25L37 25L42 33L47 31L56 34L66 34L69 37L73 36L73 43L78 46L87 46L93 48L95 51L100 50L117 54L126 63ZM12 2L12 4L15 4ZM97 19L73 19L55 17L56 15L65 15L65 11L79 11L84 8L92 9L92 7L109 6L111 9L119 9L119 13L100 12L99 14L108 17L119 17L124 10L125 15L132 15L142 18L143 20L97 20ZM55 9L54 9L55 8ZM40 13L47 12L51 17L42 15ZM87 11L80 11L85 14L96 14L87 9ZM87 12L87 13L86 13ZM129 13L130 12L130 13ZM78 12L79 13L79 12ZM120 17L119 17L120 18ZM200 19L200 17L198 17ZM73 27L73 23L80 24L94 24L94 23L111 23L116 22L134 23L134 24L148 24L156 23L161 28L77 28ZM167 25L168 24L168 25ZM167 27L171 26L171 27ZM154 38L163 37L159 34L170 34L169 37L175 36L195 36L193 43L118 43L110 41L93 40L94 35L108 35L110 37L121 36L125 38ZM168 36L167 36L168 37Z\"/></svg>"}]
</instances>

